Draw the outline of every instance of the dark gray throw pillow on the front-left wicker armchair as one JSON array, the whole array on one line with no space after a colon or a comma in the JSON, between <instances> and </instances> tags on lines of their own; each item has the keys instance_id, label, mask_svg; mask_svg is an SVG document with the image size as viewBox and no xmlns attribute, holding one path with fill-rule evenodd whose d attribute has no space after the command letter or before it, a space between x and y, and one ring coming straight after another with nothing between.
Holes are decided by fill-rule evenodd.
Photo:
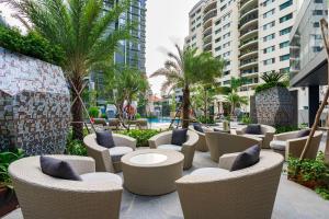
<instances>
[{"instance_id":1,"label":"dark gray throw pillow on the front-left wicker armchair","mask_svg":"<svg viewBox=\"0 0 329 219\"><path fill-rule=\"evenodd\" d=\"M78 175L71 165L66 161L41 155L39 166L42 172L46 175L69 181L82 181L80 175Z\"/></svg>"}]
</instances>

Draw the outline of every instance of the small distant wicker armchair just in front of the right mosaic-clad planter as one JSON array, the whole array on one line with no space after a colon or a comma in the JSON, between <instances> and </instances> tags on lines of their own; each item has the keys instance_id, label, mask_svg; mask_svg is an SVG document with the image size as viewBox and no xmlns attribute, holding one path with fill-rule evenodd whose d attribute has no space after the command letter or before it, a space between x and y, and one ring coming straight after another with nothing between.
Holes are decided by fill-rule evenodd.
<instances>
[{"instance_id":1,"label":"small distant wicker armchair just in front of the right mosaic-clad planter","mask_svg":"<svg viewBox=\"0 0 329 219\"><path fill-rule=\"evenodd\" d=\"M237 129L236 132L237 132L237 135L242 135L242 136L246 136L246 137L251 136L251 137L256 137L256 138L261 138L261 139L263 139L261 147L265 148L265 149L270 149L270 142L271 142L271 140L273 140L273 136L276 131L276 129L274 127L266 126L266 125L261 125L261 135L246 134L246 129L247 129L247 126Z\"/></svg>"}]
</instances>

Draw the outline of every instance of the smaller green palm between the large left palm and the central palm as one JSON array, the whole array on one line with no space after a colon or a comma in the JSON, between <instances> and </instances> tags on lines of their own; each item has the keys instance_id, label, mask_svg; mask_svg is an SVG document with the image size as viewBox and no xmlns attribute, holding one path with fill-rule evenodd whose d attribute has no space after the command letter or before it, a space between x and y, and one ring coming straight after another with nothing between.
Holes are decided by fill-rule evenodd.
<instances>
[{"instance_id":1,"label":"smaller green palm between the large left palm and the central palm","mask_svg":"<svg viewBox=\"0 0 329 219\"><path fill-rule=\"evenodd\" d=\"M118 111L118 117L123 122L123 107L127 103L127 107L138 95L145 94L148 90L148 81L145 73L138 69L131 67L116 67L113 72L106 77L106 91L112 94L114 104ZM114 93L113 93L114 92Z\"/></svg>"}]
</instances>

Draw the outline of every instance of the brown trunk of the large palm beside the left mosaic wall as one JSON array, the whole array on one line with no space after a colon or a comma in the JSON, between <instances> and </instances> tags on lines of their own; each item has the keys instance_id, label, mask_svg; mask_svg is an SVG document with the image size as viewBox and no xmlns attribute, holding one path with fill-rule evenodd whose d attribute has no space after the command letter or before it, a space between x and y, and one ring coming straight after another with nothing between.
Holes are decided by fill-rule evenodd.
<instances>
[{"instance_id":1,"label":"brown trunk of the large palm beside the left mosaic wall","mask_svg":"<svg viewBox=\"0 0 329 219\"><path fill-rule=\"evenodd\" d=\"M72 83L75 84L77 91L80 91L82 89L83 81L81 78L77 78L72 80ZM72 100L77 97L77 93L71 88L71 95ZM82 114L82 103L80 100L77 100L72 107L71 107L71 114L72 114L72 138L77 140L83 140L83 114Z\"/></svg>"}]
</instances>

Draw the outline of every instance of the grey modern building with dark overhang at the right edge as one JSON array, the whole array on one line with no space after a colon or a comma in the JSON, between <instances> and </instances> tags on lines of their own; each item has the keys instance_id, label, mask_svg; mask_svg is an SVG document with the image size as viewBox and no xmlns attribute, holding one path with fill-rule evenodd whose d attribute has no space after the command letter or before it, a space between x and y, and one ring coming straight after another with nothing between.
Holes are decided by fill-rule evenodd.
<instances>
[{"instance_id":1,"label":"grey modern building with dark overhang at the right edge","mask_svg":"<svg viewBox=\"0 0 329 219\"><path fill-rule=\"evenodd\" d=\"M328 19L326 0L305 0L291 33L291 87L298 88L299 120L311 125L325 87L328 61L324 49L320 20ZM328 110L326 110L328 113Z\"/></svg>"}]
</instances>

